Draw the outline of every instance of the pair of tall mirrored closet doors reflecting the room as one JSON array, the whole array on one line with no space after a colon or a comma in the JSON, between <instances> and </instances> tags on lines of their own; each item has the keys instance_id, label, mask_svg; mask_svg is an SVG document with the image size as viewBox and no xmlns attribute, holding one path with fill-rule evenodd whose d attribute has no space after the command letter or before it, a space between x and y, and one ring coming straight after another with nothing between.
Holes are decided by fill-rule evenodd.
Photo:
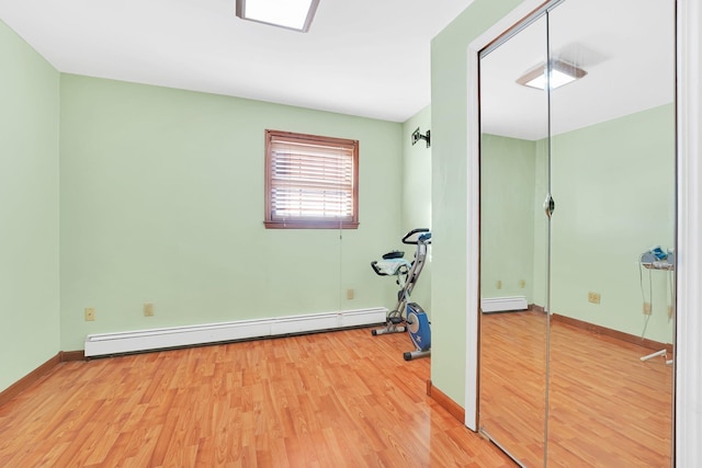
<instances>
[{"instance_id":1,"label":"pair of tall mirrored closet doors reflecting the room","mask_svg":"<svg viewBox=\"0 0 702 468\"><path fill-rule=\"evenodd\" d=\"M675 0L550 2L479 67L480 431L671 466Z\"/></svg>"}]
</instances>

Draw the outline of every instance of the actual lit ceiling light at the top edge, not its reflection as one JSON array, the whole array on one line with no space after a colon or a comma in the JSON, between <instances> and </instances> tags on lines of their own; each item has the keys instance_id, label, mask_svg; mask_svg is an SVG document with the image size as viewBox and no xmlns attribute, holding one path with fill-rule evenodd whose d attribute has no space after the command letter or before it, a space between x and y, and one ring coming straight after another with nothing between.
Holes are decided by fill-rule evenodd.
<instances>
[{"instance_id":1,"label":"actual lit ceiling light at the top edge, not its reflection","mask_svg":"<svg viewBox=\"0 0 702 468\"><path fill-rule=\"evenodd\" d=\"M319 0L237 0L237 16L306 33Z\"/></svg>"}]
</instances>

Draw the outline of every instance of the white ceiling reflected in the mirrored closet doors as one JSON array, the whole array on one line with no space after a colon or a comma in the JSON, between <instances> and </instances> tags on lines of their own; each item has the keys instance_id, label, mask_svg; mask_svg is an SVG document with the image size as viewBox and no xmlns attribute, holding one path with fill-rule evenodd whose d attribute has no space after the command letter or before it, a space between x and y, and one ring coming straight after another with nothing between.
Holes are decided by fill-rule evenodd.
<instances>
[{"instance_id":1,"label":"white ceiling reflected in the mirrored closet doors","mask_svg":"<svg viewBox=\"0 0 702 468\"><path fill-rule=\"evenodd\" d=\"M552 57L588 72L551 93L516 80L546 61L545 18L480 64L483 130L535 140L667 104L675 96L675 0L566 1L550 14ZM540 112L541 110L541 112Z\"/></svg>"}]
</instances>

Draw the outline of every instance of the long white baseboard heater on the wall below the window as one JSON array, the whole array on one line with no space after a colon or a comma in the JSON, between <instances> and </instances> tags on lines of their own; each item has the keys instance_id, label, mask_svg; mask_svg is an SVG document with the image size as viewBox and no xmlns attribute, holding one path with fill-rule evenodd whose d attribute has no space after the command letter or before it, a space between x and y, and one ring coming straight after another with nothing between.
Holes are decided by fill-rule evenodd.
<instances>
[{"instance_id":1,"label":"long white baseboard heater on the wall below the window","mask_svg":"<svg viewBox=\"0 0 702 468\"><path fill-rule=\"evenodd\" d=\"M384 323L386 315L386 308L377 307L340 312L89 334L86 336L86 357L363 327Z\"/></svg>"}]
</instances>

